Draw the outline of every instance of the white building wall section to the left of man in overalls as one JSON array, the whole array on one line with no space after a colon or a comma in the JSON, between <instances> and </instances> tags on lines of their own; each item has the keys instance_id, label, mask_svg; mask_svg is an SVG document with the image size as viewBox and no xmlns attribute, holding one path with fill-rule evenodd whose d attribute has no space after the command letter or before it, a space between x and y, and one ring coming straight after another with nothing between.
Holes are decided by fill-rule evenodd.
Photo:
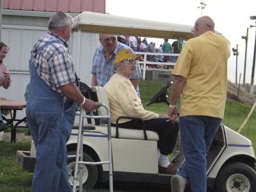
<instances>
[{"instance_id":1,"label":"white building wall section to the left of man in overalls","mask_svg":"<svg viewBox=\"0 0 256 192\"><path fill-rule=\"evenodd\" d=\"M8 90L0 88L1 97L24 100L29 82L30 51L36 40L47 31L47 22L46 17L3 15L1 40L10 47L4 63L8 66L13 81Z\"/></svg>"}]
</instances>

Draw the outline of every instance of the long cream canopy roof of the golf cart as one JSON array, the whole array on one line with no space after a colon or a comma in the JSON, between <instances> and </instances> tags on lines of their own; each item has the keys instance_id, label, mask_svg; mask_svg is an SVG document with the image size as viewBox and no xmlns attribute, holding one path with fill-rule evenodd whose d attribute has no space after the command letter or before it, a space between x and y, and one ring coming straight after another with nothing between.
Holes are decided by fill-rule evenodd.
<instances>
[{"instance_id":1,"label":"long cream canopy roof of the golf cart","mask_svg":"<svg viewBox=\"0 0 256 192\"><path fill-rule=\"evenodd\" d=\"M120 17L103 13L83 12L74 18L74 31L152 38L193 38L193 26L153 20Z\"/></svg>"}]
</instances>

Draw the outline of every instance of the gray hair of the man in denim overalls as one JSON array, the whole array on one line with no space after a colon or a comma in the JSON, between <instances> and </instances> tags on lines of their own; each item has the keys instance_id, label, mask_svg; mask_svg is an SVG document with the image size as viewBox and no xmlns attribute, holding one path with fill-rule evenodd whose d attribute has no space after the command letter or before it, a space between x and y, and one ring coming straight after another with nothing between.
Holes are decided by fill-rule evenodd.
<instances>
[{"instance_id":1,"label":"gray hair of the man in denim overalls","mask_svg":"<svg viewBox=\"0 0 256 192\"><path fill-rule=\"evenodd\" d=\"M70 15L63 11L58 11L51 15L48 22L48 29L56 30L63 26L72 26L72 24L74 24L74 20Z\"/></svg>"}]
</instances>

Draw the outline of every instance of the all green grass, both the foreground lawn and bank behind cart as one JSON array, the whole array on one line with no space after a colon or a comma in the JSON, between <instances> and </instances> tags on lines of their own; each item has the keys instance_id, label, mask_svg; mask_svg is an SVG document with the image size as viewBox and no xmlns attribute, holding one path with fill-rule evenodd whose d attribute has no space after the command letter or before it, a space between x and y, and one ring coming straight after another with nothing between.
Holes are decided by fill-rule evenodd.
<instances>
[{"instance_id":1,"label":"all green grass, both the foreground lawn and bank behind cart","mask_svg":"<svg viewBox=\"0 0 256 192\"><path fill-rule=\"evenodd\" d=\"M145 109L154 111L160 114L168 113L168 106L165 103L152 104L146 106L146 104L156 95L159 90L164 87L165 83L153 82L153 81L141 81L140 93L141 100ZM171 89L168 90L168 100L170 100ZM246 116L250 112L252 106L239 104L237 102L227 101L225 108L225 117L223 124L227 125L231 129L237 131L243 124ZM256 149L256 114L252 113L252 116L248 123L244 126L241 134L252 140L253 147ZM28 129L17 129L17 132L27 132ZM17 150L30 150L30 141L23 141L20 143L9 143L0 141L0 192L12 192L12 191L30 191L31 180L33 173L26 172L15 163L15 155ZM141 185L141 184L140 184ZM157 186L129 184L129 186L119 185L114 183L115 191L159 191ZM104 186L96 186L95 189L86 190L92 192L105 192L108 190L108 184ZM161 189L161 191L170 191L170 189Z\"/></svg>"}]
</instances>

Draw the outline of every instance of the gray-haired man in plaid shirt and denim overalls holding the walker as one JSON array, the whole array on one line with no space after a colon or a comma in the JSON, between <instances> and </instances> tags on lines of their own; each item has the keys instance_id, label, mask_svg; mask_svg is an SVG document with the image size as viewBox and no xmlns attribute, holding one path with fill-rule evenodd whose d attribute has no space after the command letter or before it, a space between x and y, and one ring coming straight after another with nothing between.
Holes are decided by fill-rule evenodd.
<instances>
[{"instance_id":1,"label":"gray-haired man in plaid shirt and denim overalls holding the walker","mask_svg":"<svg viewBox=\"0 0 256 192\"><path fill-rule=\"evenodd\" d=\"M26 106L29 131L36 147L31 191L72 191L68 181L66 144L74 125L77 104L86 111L97 107L77 88L67 44L73 23L67 13L53 13L48 23L49 31L31 51Z\"/></svg>"}]
</instances>

